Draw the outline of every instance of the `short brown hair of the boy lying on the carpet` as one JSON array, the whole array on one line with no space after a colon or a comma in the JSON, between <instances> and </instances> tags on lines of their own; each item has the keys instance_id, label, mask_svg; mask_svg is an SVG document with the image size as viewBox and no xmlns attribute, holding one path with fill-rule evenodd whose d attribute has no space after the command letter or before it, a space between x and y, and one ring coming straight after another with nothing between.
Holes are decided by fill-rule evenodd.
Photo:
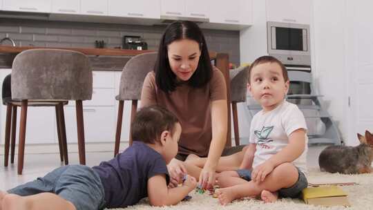
<instances>
[{"instance_id":1,"label":"short brown hair of the boy lying on the carpet","mask_svg":"<svg viewBox=\"0 0 373 210\"><path fill-rule=\"evenodd\" d=\"M133 141L154 144L160 140L163 131L175 130L178 118L170 111L160 106L146 106L138 111L131 124L131 135Z\"/></svg>"}]
</instances>

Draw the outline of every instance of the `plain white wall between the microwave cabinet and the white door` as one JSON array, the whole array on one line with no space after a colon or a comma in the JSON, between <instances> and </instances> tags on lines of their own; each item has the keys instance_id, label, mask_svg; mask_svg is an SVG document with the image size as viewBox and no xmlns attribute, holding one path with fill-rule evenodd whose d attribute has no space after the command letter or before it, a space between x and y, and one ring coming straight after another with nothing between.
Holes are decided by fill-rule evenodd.
<instances>
[{"instance_id":1,"label":"plain white wall between the microwave cabinet and the white door","mask_svg":"<svg viewBox=\"0 0 373 210\"><path fill-rule=\"evenodd\" d=\"M324 95L322 104L346 140L348 95L344 19L344 1L314 0L311 45L315 88Z\"/></svg>"}]
</instances>

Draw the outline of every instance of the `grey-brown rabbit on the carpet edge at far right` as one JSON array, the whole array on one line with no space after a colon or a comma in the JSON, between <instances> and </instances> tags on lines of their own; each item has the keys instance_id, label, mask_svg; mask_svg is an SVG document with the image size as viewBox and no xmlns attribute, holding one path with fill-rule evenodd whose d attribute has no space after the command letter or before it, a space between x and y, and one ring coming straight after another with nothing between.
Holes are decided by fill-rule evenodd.
<instances>
[{"instance_id":1,"label":"grey-brown rabbit on the carpet edge at far right","mask_svg":"<svg viewBox=\"0 0 373 210\"><path fill-rule=\"evenodd\" d=\"M318 156L321 171L329 173L371 173L373 160L373 135L365 131L358 135L358 146L327 146Z\"/></svg>"}]
</instances>

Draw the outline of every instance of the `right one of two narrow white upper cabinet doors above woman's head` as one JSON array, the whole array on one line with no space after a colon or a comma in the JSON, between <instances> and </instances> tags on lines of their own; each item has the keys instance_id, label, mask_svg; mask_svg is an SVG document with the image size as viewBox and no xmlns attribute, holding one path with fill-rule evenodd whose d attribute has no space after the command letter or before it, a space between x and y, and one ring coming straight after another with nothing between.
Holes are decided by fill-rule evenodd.
<instances>
[{"instance_id":1,"label":"right one of two narrow white upper cabinet doors above woman's head","mask_svg":"<svg viewBox=\"0 0 373 210\"><path fill-rule=\"evenodd\" d=\"M195 18L209 18L209 1L187 0L185 3L185 16Z\"/></svg>"}]
</instances>

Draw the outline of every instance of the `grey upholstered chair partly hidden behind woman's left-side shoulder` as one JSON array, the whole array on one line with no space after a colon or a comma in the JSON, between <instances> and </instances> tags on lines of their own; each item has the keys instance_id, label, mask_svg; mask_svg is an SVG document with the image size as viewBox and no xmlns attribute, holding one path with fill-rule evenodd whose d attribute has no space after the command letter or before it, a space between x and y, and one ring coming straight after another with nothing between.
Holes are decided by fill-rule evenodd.
<instances>
[{"instance_id":1,"label":"grey upholstered chair partly hidden behind woman's left-side shoulder","mask_svg":"<svg viewBox=\"0 0 373 210\"><path fill-rule=\"evenodd\" d=\"M143 53L128 60L122 71L119 84L119 95L115 99L119 100L117 131L115 133L114 156L119 152L120 134L122 132L122 117L124 100L132 100L131 122L137 111L137 100L141 98L142 84L146 75L154 69L157 53ZM131 128L129 144L132 144Z\"/></svg>"}]
</instances>

